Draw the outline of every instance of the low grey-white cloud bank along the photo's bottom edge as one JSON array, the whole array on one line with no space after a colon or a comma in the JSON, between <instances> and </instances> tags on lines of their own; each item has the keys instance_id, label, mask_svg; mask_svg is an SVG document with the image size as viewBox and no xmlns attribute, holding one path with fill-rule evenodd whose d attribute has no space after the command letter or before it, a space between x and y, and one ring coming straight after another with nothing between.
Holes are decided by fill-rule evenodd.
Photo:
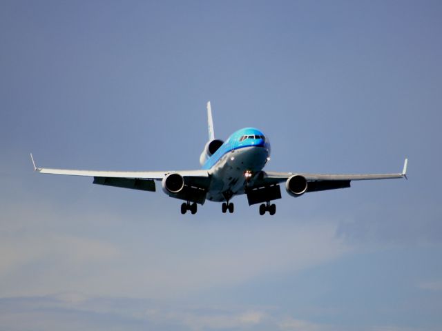
<instances>
[{"instance_id":1,"label":"low grey-white cloud bank along the photo's bottom edge","mask_svg":"<svg viewBox=\"0 0 442 331\"><path fill-rule=\"evenodd\" d=\"M0 299L0 325L6 330L279 330L351 331L354 327L282 316L276 307L208 307L174 301L88 297L61 293ZM396 325L358 325L361 331L435 331Z\"/></svg>"}]
</instances>

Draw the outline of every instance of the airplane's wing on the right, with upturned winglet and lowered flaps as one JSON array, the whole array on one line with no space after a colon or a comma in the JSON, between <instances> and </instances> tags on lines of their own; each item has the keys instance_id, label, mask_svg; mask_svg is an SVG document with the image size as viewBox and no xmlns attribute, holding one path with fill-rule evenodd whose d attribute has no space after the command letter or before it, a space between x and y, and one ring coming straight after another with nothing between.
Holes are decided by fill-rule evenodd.
<instances>
[{"instance_id":1,"label":"airplane's wing on the right, with upturned winglet and lowered flaps","mask_svg":"<svg viewBox=\"0 0 442 331\"><path fill-rule=\"evenodd\" d=\"M307 180L308 188L306 192L333 190L336 188L349 188L350 181L367 181L375 179L407 179L407 163L405 159L401 173L392 174L309 174L299 172L261 172L253 180L251 186L259 188L266 185L275 185L287 181L289 177L298 175Z\"/></svg>"}]
</instances>

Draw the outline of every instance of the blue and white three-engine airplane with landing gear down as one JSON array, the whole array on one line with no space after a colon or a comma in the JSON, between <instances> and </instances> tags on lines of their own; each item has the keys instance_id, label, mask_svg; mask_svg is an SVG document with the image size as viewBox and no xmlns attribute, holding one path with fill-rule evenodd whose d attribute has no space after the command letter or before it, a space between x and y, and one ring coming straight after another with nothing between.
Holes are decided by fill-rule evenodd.
<instances>
[{"instance_id":1,"label":"blue and white three-engine airplane with landing gear down","mask_svg":"<svg viewBox=\"0 0 442 331\"><path fill-rule=\"evenodd\" d=\"M206 105L209 141L200 156L200 170L184 171L94 171L38 168L30 154L34 170L42 174L66 174L94 177L93 183L119 188L155 192L161 181L164 193L185 202L181 213L197 212L206 200L222 202L222 212L233 213L231 199L245 194L249 205L260 203L259 213L276 213L271 201L281 198L280 184L291 197L338 188L349 188L350 181L373 179L407 179L407 159L401 173L393 174L309 174L270 172L263 168L270 160L269 138L256 128L243 128L226 140L215 139L210 101Z\"/></svg>"}]
</instances>

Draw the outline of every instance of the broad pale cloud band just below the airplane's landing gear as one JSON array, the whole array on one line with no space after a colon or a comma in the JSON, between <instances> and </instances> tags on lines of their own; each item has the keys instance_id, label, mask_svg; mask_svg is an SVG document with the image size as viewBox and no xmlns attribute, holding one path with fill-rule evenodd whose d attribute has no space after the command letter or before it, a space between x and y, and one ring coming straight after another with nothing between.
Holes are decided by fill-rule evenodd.
<instances>
[{"instance_id":1,"label":"broad pale cloud band just below the airplane's landing gear","mask_svg":"<svg viewBox=\"0 0 442 331\"><path fill-rule=\"evenodd\" d=\"M75 291L167 299L297 272L349 250L326 222L147 223L138 215L128 220L34 207L9 210L0 223L3 295Z\"/></svg>"}]
</instances>

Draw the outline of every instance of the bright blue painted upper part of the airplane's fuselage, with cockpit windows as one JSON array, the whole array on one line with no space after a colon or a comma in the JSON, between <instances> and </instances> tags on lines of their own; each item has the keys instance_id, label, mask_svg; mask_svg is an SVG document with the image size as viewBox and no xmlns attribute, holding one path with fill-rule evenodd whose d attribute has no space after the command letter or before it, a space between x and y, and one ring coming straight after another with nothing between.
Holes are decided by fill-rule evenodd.
<instances>
[{"instance_id":1,"label":"bright blue painted upper part of the airplane's fuselage, with cockpit windows","mask_svg":"<svg viewBox=\"0 0 442 331\"><path fill-rule=\"evenodd\" d=\"M231 134L222 146L207 159L203 170L213 168L226 154L238 153L240 150L265 150L266 158L270 157L270 141L262 131L256 128L243 128ZM262 153L260 153L262 154Z\"/></svg>"}]
</instances>

